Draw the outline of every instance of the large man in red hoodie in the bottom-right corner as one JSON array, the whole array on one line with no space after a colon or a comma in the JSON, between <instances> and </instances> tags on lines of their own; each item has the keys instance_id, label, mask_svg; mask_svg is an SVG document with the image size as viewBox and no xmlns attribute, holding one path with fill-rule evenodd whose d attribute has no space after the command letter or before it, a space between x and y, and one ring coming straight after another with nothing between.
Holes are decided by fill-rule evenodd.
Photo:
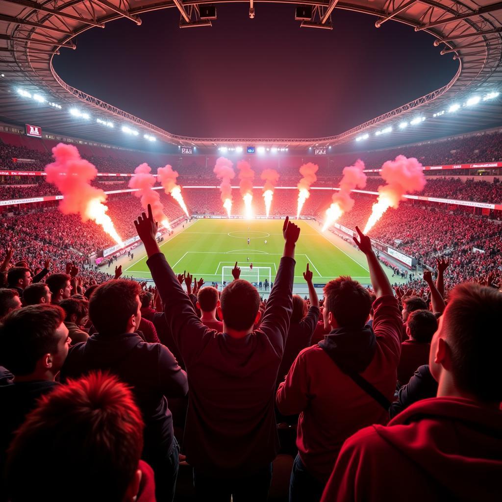
<instances>
[{"instance_id":1,"label":"large man in red hoodie in the bottom-right corner","mask_svg":"<svg viewBox=\"0 0 502 502\"><path fill-rule=\"evenodd\" d=\"M415 403L387 427L372 425L349 438L323 502L403 494L410 501L496 498L502 471L500 312L502 294L493 288L461 284L451 292L431 343L437 397Z\"/></svg>"}]
</instances>

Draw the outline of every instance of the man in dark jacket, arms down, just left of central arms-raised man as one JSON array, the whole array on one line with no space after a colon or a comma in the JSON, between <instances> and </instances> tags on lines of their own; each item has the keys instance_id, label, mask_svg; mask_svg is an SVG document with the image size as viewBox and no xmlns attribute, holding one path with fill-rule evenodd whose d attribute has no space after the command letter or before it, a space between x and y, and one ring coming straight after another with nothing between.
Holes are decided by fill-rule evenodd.
<instances>
[{"instance_id":1,"label":"man in dark jacket, arms down, just left of central arms-raised man","mask_svg":"<svg viewBox=\"0 0 502 502\"><path fill-rule=\"evenodd\" d=\"M136 333L140 292L137 282L126 280L111 280L94 290L89 316L97 333L70 348L61 380L102 369L132 387L145 420L143 459L155 472L157 497L172 500L179 450L166 397L186 395L186 374L165 346L147 343Z\"/></svg>"}]
</instances>

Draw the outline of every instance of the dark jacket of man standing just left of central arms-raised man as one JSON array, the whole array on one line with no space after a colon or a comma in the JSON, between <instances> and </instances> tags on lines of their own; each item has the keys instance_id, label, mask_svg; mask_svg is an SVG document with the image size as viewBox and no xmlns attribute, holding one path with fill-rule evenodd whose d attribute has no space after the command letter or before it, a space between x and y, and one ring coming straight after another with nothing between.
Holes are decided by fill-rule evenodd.
<instances>
[{"instance_id":1,"label":"dark jacket of man standing just left of central arms-raised man","mask_svg":"<svg viewBox=\"0 0 502 502\"><path fill-rule=\"evenodd\" d=\"M91 370L109 371L129 384L145 420L144 458L165 456L173 446L172 416L167 399L188 392L187 377L173 354L160 343L147 343L138 333L96 333L70 347L61 382Z\"/></svg>"}]
</instances>

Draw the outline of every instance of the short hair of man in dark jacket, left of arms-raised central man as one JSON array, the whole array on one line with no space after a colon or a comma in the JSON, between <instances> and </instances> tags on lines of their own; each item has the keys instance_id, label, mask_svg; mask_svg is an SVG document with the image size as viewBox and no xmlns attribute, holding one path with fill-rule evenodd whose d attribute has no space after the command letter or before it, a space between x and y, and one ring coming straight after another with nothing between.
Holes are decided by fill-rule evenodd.
<instances>
[{"instance_id":1,"label":"short hair of man in dark jacket, left of arms-raised central man","mask_svg":"<svg viewBox=\"0 0 502 502\"><path fill-rule=\"evenodd\" d=\"M136 281L112 279L98 286L89 300L89 317L96 330L105 335L126 331L128 320L138 312L140 293Z\"/></svg>"}]
</instances>

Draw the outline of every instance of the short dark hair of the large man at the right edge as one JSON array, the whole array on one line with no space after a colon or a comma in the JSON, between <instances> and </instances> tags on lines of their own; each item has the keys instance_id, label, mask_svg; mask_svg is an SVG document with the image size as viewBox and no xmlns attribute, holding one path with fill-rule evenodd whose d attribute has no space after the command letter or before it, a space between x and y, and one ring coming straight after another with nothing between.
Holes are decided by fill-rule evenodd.
<instances>
[{"instance_id":1,"label":"short dark hair of the large man at the right edge","mask_svg":"<svg viewBox=\"0 0 502 502\"><path fill-rule=\"evenodd\" d=\"M459 389L484 402L502 401L500 312L502 293L464 283L449 293L443 314L454 381Z\"/></svg>"}]
</instances>

